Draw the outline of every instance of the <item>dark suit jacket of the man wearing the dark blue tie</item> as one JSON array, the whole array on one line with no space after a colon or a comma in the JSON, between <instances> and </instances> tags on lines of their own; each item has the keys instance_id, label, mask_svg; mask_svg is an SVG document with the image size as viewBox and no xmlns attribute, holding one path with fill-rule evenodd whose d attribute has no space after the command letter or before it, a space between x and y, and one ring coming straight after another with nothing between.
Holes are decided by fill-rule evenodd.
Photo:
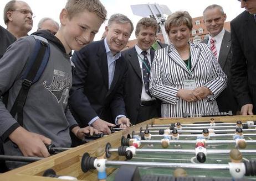
<instances>
[{"instance_id":1,"label":"dark suit jacket of the man wearing the dark blue tie","mask_svg":"<svg viewBox=\"0 0 256 181\"><path fill-rule=\"evenodd\" d=\"M128 118L132 124L136 124L139 113L142 92L142 77L140 70L139 58L135 46L131 49L122 51L125 60L129 63L129 70L125 83L125 107ZM155 51L150 50L151 62Z\"/></svg>"}]
</instances>

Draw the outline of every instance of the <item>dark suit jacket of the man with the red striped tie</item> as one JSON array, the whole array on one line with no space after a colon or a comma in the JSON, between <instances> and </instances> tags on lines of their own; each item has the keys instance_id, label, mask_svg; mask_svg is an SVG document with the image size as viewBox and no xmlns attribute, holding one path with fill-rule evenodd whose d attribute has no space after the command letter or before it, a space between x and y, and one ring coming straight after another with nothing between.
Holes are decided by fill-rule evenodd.
<instances>
[{"instance_id":1,"label":"dark suit jacket of the man with the red striped tie","mask_svg":"<svg viewBox=\"0 0 256 181\"><path fill-rule=\"evenodd\" d=\"M202 42L207 44L208 41L209 41L209 38L203 40ZM219 97L216 99L218 108L219 108L219 111L221 112L227 112L229 110L232 110L233 114L235 114L238 111L238 105L237 105L237 100L235 100L233 88L231 85L231 73L230 73L231 62L232 62L231 33L227 30L225 30L225 33L222 39L218 62L223 72L226 73L228 77L227 88L224 89L223 92L219 94Z\"/></svg>"}]
</instances>

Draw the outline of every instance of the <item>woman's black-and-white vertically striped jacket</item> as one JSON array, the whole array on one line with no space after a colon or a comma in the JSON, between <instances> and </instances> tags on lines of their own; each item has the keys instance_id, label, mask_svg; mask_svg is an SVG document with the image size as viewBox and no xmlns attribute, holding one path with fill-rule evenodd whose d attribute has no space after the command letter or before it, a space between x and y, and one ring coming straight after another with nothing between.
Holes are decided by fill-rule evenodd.
<instances>
[{"instance_id":1,"label":"woman's black-and-white vertically striped jacket","mask_svg":"<svg viewBox=\"0 0 256 181\"><path fill-rule=\"evenodd\" d=\"M150 92L161 99L162 117L182 117L183 113L218 112L216 98L227 86L227 76L206 44L191 43L191 70L171 44L155 52L151 67ZM207 87L213 95L188 103L177 97L185 79L194 79L196 87Z\"/></svg>"}]
</instances>

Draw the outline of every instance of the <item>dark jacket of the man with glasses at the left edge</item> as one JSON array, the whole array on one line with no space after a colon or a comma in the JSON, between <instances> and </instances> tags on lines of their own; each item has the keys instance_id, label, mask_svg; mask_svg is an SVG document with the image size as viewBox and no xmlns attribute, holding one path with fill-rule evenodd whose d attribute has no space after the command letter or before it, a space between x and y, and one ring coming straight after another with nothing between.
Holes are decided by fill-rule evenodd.
<instances>
[{"instance_id":1,"label":"dark jacket of the man with glasses at the left edge","mask_svg":"<svg viewBox=\"0 0 256 181\"><path fill-rule=\"evenodd\" d=\"M0 26L0 58L2 58L4 52L6 52L6 49L9 45L11 45L14 41L16 41L15 36L13 36L11 33L9 33L8 30L4 29L2 26Z\"/></svg>"}]
</instances>

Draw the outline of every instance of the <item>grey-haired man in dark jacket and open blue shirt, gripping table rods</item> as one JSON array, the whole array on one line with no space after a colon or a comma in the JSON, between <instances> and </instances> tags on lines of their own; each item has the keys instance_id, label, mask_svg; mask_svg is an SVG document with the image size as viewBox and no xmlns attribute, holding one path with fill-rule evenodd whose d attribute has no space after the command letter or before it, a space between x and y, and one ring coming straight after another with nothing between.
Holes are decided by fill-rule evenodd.
<instances>
[{"instance_id":1,"label":"grey-haired man in dark jacket and open blue shirt, gripping table rods","mask_svg":"<svg viewBox=\"0 0 256 181\"><path fill-rule=\"evenodd\" d=\"M69 106L80 126L90 125L110 134L110 126L130 125L123 99L128 63L120 50L126 46L133 29L129 18L114 14L105 28L104 40L75 52Z\"/></svg>"}]
</instances>

